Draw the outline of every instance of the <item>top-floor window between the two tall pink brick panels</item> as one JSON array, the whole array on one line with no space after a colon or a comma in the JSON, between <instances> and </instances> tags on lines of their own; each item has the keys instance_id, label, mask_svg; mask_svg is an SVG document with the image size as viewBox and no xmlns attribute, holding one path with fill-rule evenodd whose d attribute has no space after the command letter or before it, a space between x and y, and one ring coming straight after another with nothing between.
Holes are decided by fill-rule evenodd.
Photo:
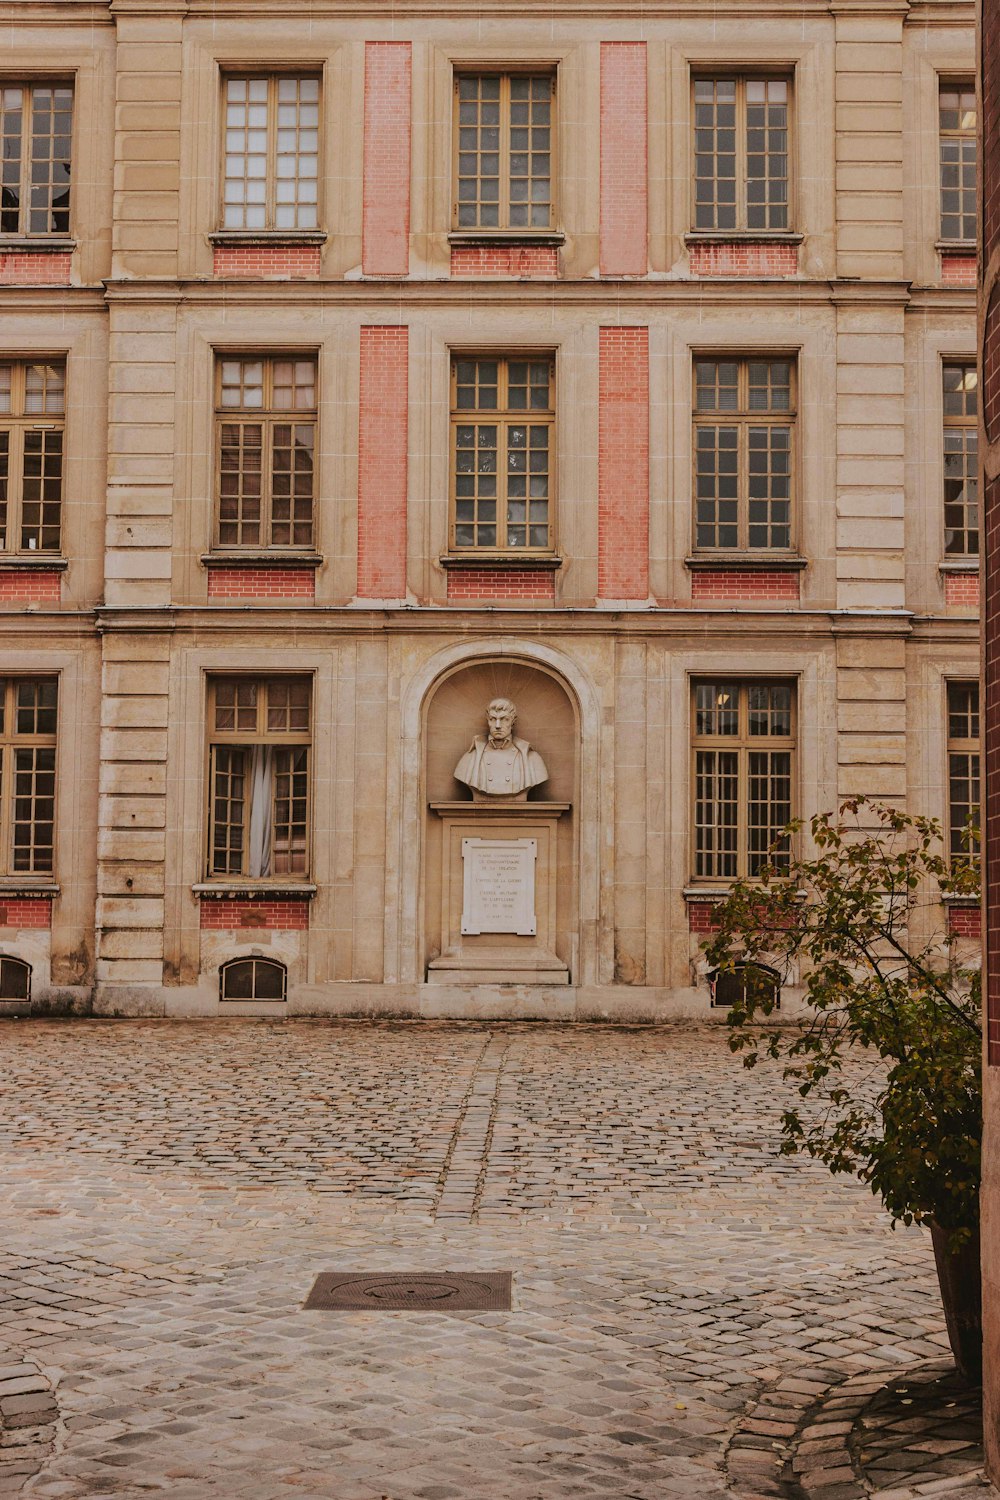
<instances>
[{"instance_id":1,"label":"top-floor window between the two tall pink brick panels","mask_svg":"<svg viewBox=\"0 0 1000 1500\"><path fill-rule=\"evenodd\" d=\"M552 228L552 74L454 81L456 230Z\"/></svg>"}]
</instances>

